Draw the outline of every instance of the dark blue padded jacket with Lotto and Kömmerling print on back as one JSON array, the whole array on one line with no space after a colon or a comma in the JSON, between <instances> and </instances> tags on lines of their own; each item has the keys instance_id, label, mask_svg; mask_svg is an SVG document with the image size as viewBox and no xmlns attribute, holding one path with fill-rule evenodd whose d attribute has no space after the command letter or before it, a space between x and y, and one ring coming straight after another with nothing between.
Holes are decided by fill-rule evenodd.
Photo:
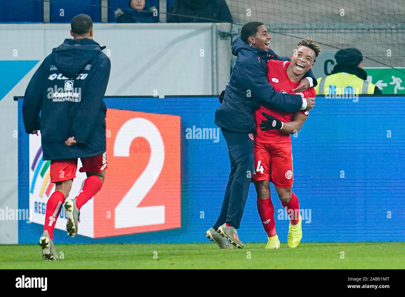
<instances>
[{"instance_id":1,"label":"dark blue padded jacket with Lotto and K\u00f6mmerling print on back","mask_svg":"<svg viewBox=\"0 0 405 297\"><path fill-rule=\"evenodd\" d=\"M103 101L110 59L92 39L66 39L53 48L27 86L23 121L40 130L44 160L92 157L106 150ZM65 141L75 137L77 145Z\"/></svg>"}]
</instances>

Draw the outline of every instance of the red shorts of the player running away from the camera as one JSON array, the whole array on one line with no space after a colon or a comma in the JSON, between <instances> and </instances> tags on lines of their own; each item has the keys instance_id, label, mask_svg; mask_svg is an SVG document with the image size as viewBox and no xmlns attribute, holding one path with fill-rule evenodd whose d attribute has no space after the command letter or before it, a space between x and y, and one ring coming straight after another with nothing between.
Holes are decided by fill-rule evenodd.
<instances>
[{"instance_id":1,"label":"red shorts of the player running away from the camera","mask_svg":"<svg viewBox=\"0 0 405 297\"><path fill-rule=\"evenodd\" d=\"M107 155L104 152L98 156L80 158L82 167L80 172L101 172L107 168ZM51 161L51 182L68 181L76 177L77 159Z\"/></svg>"}]
</instances>

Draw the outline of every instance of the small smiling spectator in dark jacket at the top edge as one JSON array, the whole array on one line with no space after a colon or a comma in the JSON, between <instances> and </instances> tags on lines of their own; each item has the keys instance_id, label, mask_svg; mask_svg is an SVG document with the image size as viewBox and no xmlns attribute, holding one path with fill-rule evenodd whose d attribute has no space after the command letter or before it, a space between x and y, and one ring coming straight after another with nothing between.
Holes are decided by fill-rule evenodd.
<instances>
[{"instance_id":1,"label":"small smiling spectator in dark jacket at the top edge","mask_svg":"<svg viewBox=\"0 0 405 297\"><path fill-rule=\"evenodd\" d=\"M146 0L129 0L129 7L118 8L114 14L117 23L157 23L159 21L156 6L148 6Z\"/></svg>"}]
</instances>

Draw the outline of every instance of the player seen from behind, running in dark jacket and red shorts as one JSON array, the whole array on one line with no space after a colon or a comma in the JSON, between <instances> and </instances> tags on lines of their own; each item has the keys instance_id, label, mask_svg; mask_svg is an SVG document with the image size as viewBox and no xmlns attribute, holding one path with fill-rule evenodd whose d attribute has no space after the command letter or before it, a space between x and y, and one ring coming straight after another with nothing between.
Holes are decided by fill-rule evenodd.
<instances>
[{"instance_id":1,"label":"player seen from behind, running in dark jacket and red shorts","mask_svg":"<svg viewBox=\"0 0 405 297\"><path fill-rule=\"evenodd\" d=\"M100 189L105 178L106 112L103 101L111 63L93 40L93 21L88 15L72 19L70 34L45 58L26 89L23 120L26 132L41 131L43 160L51 160L51 182L55 192L49 197L45 226L40 237L44 259L58 259L53 247L53 229L64 204L66 229L77 234L79 210ZM74 199L66 198L76 177L77 158L87 174ZM65 201L66 200L66 201Z\"/></svg>"}]
</instances>

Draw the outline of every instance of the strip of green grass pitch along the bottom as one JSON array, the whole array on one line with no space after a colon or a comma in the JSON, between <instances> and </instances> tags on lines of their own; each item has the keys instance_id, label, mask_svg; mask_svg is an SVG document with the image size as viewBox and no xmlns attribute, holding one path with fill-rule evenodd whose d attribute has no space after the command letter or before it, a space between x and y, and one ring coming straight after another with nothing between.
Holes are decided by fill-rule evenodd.
<instances>
[{"instance_id":1,"label":"strip of green grass pitch along the bottom","mask_svg":"<svg viewBox=\"0 0 405 297\"><path fill-rule=\"evenodd\" d=\"M404 269L405 242L307 243L221 250L215 243L55 244L64 259L44 261L34 244L0 245L0 269ZM343 253L344 252L344 259Z\"/></svg>"}]
</instances>

